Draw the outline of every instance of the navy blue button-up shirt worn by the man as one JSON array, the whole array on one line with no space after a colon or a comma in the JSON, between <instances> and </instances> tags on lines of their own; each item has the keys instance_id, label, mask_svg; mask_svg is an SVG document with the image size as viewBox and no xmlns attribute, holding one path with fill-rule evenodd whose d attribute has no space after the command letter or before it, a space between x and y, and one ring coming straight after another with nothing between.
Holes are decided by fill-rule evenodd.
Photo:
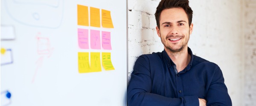
<instances>
[{"instance_id":1,"label":"navy blue button-up shirt worn by the man","mask_svg":"<svg viewBox=\"0 0 256 106\"><path fill-rule=\"evenodd\" d=\"M175 73L166 51L141 55L128 85L129 106L232 106L223 74L217 64L192 55L186 68Z\"/></svg>"}]
</instances>

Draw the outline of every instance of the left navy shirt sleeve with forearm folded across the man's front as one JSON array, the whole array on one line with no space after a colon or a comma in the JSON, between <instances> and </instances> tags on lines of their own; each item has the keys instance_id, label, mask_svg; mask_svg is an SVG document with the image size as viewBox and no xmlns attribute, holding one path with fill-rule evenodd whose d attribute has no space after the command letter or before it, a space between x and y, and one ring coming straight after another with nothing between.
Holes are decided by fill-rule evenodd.
<instances>
[{"instance_id":1,"label":"left navy shirt sleeve with forearm folded across the man's front","mask_svg":"<svg viewBox=\"0 0 256 106\"><path fill-rule=\"evenodd\" d=\"M128 106L199 106L198 96L167 98L151 93L151 74L149 59L140 56L131 73L127 90Z\"/></svg>"}]
</instances>

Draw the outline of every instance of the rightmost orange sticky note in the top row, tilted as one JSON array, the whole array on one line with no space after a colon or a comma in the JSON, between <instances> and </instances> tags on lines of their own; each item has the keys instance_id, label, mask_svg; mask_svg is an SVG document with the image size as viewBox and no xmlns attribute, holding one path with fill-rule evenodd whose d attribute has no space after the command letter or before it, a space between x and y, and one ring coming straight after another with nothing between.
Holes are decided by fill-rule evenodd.
<instances>
[{"instance_id":1,"label":"rightmost orange sticky note in the top row, tilted","mask_svg":"<svg viewBox=\"0 0 256 106\"><path fill-rule=\"evenodd\" d=\"M102 27L114 28L110 11L102 9Z\"/></svg>"}]
</instances>

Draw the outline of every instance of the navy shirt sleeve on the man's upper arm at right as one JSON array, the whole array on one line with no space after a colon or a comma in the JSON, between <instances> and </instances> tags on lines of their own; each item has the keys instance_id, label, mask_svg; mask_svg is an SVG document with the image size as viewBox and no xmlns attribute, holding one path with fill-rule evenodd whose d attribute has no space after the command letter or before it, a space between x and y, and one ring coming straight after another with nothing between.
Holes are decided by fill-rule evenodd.
<instances>
[{"instance_id":1,"label":"navy shirt sleeve on the man's upper arm at right","mask_svg":"<svg viewBox=\"0 0 256 106\"><path fill-rule=\"evenodd\" d=\"M206 95L207 106L232 106L223 74L218 66L211 78L212 81Z\"/></svg>"}]
</instances>

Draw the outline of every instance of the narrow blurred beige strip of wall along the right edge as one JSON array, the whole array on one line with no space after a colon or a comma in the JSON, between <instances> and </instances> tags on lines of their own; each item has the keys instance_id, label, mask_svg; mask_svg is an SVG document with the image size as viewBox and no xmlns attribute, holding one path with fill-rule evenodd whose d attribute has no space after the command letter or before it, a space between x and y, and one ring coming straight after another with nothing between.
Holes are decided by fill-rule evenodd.
<instances>
[{"instance_id":1,"label":"narrow blurred beige strip of wall along the right edge","mask_svg":"<svg viewBox=\"0 0 256 106\"><path fill-rule=\"evenodd\" d=\"M256 106L256 0L244 0L244 106Z\"/></svg>"}]
</instances>

